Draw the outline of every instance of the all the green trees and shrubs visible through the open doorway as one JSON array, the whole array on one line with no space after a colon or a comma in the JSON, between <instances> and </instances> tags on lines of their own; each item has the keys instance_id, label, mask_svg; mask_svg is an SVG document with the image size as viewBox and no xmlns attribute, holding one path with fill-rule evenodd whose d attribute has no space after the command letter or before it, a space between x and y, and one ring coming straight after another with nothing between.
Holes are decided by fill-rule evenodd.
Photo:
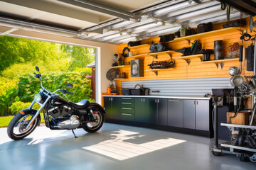
<instances>
[{"instance_id":1,"label":"all the green trees and shrubs visible through the open doorway","mask_svg":"<svg viewBox=\"0 0 256 170\"><path fill-rule=\"evenodd\" d=\"M74 95L67 94L68 100L92 101L91 69L85 66L95 60L94 52L86 47L0 36L0 115L15 115L33 101L41 87L40 80L31 76L36 66L48 90L67 89L66 83L71 83L73 89L68 91Z\"/></svg>"}]
</instances>

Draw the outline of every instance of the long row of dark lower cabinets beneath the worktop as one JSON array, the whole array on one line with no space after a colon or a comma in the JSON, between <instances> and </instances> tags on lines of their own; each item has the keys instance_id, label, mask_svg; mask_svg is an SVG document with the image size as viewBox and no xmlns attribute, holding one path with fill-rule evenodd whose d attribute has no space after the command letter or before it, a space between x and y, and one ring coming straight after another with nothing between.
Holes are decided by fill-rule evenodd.
<instances>
[{"instance_id":1,"label":"long row of dark lower cabinets beneath the worktop","mask_svg":"<svg viewBox=\"0 0 256 170\"><path fill-rule=\"evenodd\" d=\"M209 136L211 133L209 100L106 96L104 104L107 119L112 122L144 123L149 128L190 134L199 132Z\"/></svg>"}]
</instances>

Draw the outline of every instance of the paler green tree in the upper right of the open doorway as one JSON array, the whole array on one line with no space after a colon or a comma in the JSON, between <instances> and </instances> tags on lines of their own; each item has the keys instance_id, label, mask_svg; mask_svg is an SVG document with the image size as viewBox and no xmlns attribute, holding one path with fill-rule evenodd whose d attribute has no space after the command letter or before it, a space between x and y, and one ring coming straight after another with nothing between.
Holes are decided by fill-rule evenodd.
<instances>
[{"instance_id":1,"label":"paler green tree in the upper right of the open doorway","mask_svg":"<svg viewBox=\"0 0 256 170\"><path fill-rule=\"evenodd\" d=\"M68 70L70 71L74 71L78 68L85 68L87 64L90 64L95 60L95 50L93 48L61 45L60 49L63 50L63 52L67 52L72 60L68 67Z\"/></svg>"}]
</instances>

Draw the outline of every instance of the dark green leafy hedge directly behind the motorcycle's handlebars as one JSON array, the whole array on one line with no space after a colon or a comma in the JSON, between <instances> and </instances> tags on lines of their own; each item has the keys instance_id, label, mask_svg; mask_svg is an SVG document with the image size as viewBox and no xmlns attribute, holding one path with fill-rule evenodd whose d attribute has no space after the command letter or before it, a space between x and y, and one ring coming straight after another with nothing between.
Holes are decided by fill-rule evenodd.
<instances>
[{"instance_id":1,"label":"dark green leafy hedge directly behind the motorcycle's handlebars","mask_svg":"<svg viewBox=\"0 0 256 170\"><path fill-rule=\"evenodd\" d=\"M66 94L70 101L78 102L82 99L92 101L91 79L88 77L88 74L91 74L89 70L80 73L68 72L43 75L43 86L52 92L57 89L67 89L73 92L73 95ZM68 89L66 87L67 83L73 84L73 89ZM21 101L31 102L33 101L34 94L38 93L39 89L41 89L40 80L29 75L21 76L19 77L18 88L18 96L21 98ZM63 95L60 94L60 96Z\"/></svg>"}]
</instances>

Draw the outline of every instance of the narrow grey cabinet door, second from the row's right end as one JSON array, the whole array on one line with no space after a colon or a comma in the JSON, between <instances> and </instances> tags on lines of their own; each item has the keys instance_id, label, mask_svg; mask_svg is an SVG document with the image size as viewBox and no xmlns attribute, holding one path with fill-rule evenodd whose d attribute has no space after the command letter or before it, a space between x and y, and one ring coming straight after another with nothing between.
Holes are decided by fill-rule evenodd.
<instances>
[{"instance_id":1,"label":"narrow grey cabinet door, second from the row's right end","mask_svg":"<svg viewBox=\"0 0 256 170\"><path fill-rule=\"evenodd\" d=\"M196 128L195 103L195 100L183 100L183 128Z\"/></svg>"}]
</instances>

